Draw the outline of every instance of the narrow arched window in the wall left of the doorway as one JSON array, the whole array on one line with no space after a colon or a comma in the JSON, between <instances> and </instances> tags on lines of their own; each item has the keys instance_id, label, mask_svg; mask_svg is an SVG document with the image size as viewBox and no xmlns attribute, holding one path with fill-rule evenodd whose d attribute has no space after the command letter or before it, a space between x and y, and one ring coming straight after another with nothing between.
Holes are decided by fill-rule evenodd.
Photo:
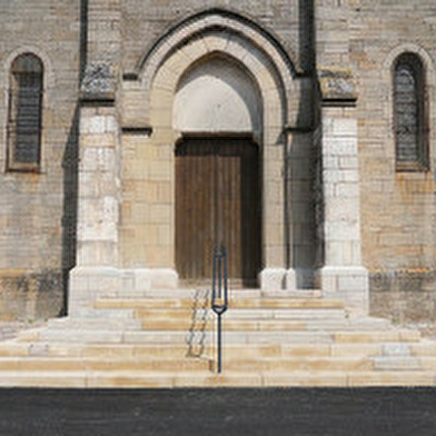
<instances>
[{"instance_id":1,"label":"narrow arched window in the wall left of the doorway","mask_svg":"<svg viewBox=\"0 0 436 436\"><path fill-rule=\"evenodd\" d=\"M8 117L8 169L36 171L41 157L43 66L31 53L11 67Z\"/></svg>"}]
</instances>

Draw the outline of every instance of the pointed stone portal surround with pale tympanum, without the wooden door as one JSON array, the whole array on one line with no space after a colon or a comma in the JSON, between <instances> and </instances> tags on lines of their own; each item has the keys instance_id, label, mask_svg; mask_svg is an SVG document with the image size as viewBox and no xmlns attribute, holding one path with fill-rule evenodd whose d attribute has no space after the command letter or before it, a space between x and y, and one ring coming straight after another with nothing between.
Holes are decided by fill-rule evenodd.
<instances>
[{"instance_id":1,"label":"pointed stone portal surround with pale tympanum, without the wooden door","mask_svg":"<svg viewBox=\"0 0 436 436\"><path fill-rule=\"evenodd\" d=\"M146 247L150 267L176 269L178 140L188 133L209 139L217 135L221 139L249 135L259 151L260 281L264 288L283 286L288 268L283 177L285 128L298 107L297 101L289 105L297 87L293 65L284 53L274 38L246 20L212 12L190 20L186 27L178 26L145 57L138 88L129 85L123 97L126 105L133 100L142 105L141 111L137 108L135 112L141 113L142 121L129 122L143 123L146 119L152 128L147 140L149 155L157 157L147 162L152 182L162 184L162 191L164 185L169 186L168 196L151 206L152 210L168 210L159 216L159 226L168 229L169 237L159 246L149 242ZM205 90L208 95L204 102ZM143 99L138 99L141 92ZM232 107L237 110L231 111ZM153 264L156 252L160 258Z\"/></svg>"}]
</instances>

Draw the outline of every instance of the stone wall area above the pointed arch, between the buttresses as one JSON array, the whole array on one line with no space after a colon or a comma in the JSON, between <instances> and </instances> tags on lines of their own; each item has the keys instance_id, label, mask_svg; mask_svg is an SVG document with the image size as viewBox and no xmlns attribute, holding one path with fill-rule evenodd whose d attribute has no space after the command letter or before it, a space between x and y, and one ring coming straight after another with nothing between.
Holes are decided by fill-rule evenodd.
<instances>
[{"instance_id":1,"label":"stone wall area above the pointed arch, between the buttresses","mask_svg":"<svg viewBox=\"0 0 436 436\"><path fill-rule=\"evenodd\" d=\"M296 54L298 65L310 65L307 28L301 21L310 17L309 1L276 0L189 0L167 2L157 0L122 1L123 70L135 72L140 59L152 44L178 21L196 12L222 9L230 10L257 21L265 30L272 31L289 52Z\"/></svg>"}]
</instances>

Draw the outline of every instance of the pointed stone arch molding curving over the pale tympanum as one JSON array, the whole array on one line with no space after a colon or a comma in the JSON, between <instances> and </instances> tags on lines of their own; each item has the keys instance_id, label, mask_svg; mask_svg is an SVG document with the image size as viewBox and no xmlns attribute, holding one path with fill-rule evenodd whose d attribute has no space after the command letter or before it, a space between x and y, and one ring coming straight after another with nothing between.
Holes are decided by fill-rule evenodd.
<instances>
[{"instance_id":1,"label":"pointed stone arch molding curving over the pale tympanum","mask_svg":"<svg viewBox=\"0 0 436 436\"><path fill-rule=\"evenodd\" d=\"M150 99L155 88L176 92L180 77L206 57L225 56L234 59L250 75L262 93L280 93L281 127L296 118L299 80L291 60L272 37L236 14L214 11L187 19L166 33L138 66L138 81L125 82L125 120L136 125L130 101L141 106L142 119L149 120ZM133 96L136 93L136 97ZM138 97L141 102L138 103ZM289 97L293 96L291 99ZM270 110L278 110L269 108ZM266 112L268 108L265 107ZM136 119L136 120L135 120Z\"/></svg>"}]
</instances>

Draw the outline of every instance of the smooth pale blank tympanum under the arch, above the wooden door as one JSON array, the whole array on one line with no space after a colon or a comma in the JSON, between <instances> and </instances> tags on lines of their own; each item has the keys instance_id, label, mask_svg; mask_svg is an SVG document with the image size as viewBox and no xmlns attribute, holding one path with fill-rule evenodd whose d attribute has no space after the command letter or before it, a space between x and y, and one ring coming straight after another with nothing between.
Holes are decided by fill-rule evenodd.
<instances>
[{"instance_id":1,"label":"smooth pale blank tympanum under the arch, above the wooden door","mask_svg":"<svg viewBox=\"0 0 436 436\"><path fill-rule=\"evenodd\" d=\"M184 133L262 131L256 79L235 59L216 53L198 61L179 80L172 126Z\"/></svg>"}]
</instances>

